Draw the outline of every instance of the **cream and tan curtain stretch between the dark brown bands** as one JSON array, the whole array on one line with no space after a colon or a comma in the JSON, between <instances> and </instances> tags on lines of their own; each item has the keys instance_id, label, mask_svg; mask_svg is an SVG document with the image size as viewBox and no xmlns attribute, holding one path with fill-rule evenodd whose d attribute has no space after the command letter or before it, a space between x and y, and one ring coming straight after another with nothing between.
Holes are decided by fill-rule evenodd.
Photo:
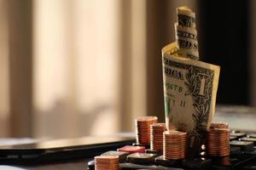
<instances>
[{"instance_id":1,"label":"cream and tan curtain stretch between the dark brown bands","mask_svg":"<svg viewBox=\"0 0 256 170\"><path fill-rule=\"evenodd\" d=\"M33 135L131 131L131 120L146 114L145 1L33 7Z\"/></svg>"}]
</instances>

